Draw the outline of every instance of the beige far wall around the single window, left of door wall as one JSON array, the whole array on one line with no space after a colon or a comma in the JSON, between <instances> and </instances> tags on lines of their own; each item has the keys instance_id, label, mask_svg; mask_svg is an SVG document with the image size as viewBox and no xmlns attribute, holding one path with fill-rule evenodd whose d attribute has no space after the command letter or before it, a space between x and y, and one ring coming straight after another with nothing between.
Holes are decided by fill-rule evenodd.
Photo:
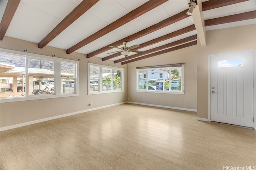
<instances>
[{"instance_id":1,"label":"beige far wall around the single window, left of door wall","mask_svg":"<svg viewBox=\"0 0 256 170\"><path fill-rule=\"evenodd\" d=\"M128 64L129 102L196 109L197 45ZM136 67L185 63L185 94L136 92Z\"/></svg>"}]
</instances>

